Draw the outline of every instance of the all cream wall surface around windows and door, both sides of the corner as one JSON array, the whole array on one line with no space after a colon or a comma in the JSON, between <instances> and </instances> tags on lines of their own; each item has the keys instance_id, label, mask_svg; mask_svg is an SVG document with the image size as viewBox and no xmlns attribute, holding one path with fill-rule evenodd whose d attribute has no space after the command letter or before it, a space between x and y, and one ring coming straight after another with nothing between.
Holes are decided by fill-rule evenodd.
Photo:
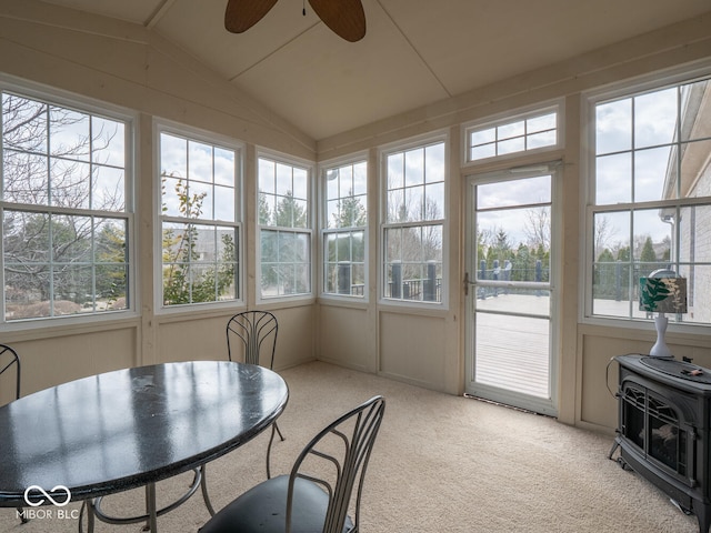
<instances>
[{"instance_id":1,"label":"all cream wall surface around windows and door, both sides of the corner","mask_svg":"<svg viewBox=\"0 0 711 533\"><path fill-rule=\"evenodd\" d=\"M581 218L581 123L583 92L624 79L699 60L711 60L711 13L617 46L472 90L427 108L392 117L316 143L291 124L150 31L92 16L72 17L32 0L0 4L0 72L44 83L139 111L140 316L76 329L48 326L32 332L0 332L26 361L26 393L103 370L183 359L224 356L223 324L229 313L161 315L152 304L152 137L161 117L248 143L247 194L254 198L257 145L308 160L328 160L356 151L378 168L377 148L412 135L444 130L451 139L448 208L450 283L444 310L409 310L381 304L374 283L360 304L307 301L276 309L280 323L278 366L313 358L378 372L449 393L463 390L464 300L463 194L465 170L459 153L459 124L552 99L565 102L565 148L554 154L563 170L563 250L559 269L562 329L559 371L560 419L611 431L615 401L605 386L610 358L644 351L653 332L601 328L579 319ZM550 155L549 155L550 158ZM482 170L497 170L495 165ZM370 211L378 210L378 177L370 183ZM256 235L248 205L247 254ZM378 272L378 228L369 229L371 280ZM256 303L254 265L248 261L248 302ZM234 310L237 311L237 310ZM711 366L709 335L673 335L680 355ZM617 380L615 369L609 380Z\"/></svg>"}]
</instances>

